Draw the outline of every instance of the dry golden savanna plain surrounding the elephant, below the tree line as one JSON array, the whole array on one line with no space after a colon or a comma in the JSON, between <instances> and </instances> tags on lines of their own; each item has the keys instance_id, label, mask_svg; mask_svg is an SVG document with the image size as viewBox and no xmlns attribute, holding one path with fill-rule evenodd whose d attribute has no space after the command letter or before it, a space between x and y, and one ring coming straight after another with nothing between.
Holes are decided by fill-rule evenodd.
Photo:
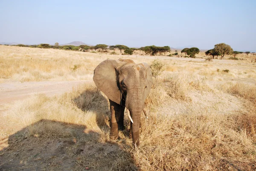
<instances>
[{"instance_id":1,"label":"dry golden savanna plain surrounding the elephant, below the tree line","mask_svg":"<svg viewBox=\"0 0 256 171\"><path fill-rule=\"evenodd\" d=\"M180 52L178 52L180 55ZM13 83L41 83L58 91L0 104L3 171L254 171L256 170L256 63L168 56L110 55L0 45L0 95ZM93 83L106 59L164 64L145 101L140 146L124 131L109 139L107 97ZM58 82L58 87L51 87ZM37 85L35 84L35 85ZM12 90L13 91L13 90ZM17 94L22 89L17 90Z\"/></svg>"}]
</instances>

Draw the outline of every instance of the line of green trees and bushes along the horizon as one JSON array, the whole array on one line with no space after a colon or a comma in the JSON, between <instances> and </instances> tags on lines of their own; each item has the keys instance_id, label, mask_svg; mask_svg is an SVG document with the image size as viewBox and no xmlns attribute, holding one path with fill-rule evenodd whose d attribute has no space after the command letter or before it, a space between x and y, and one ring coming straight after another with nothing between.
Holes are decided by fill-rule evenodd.
<instances>
[{"instance_id":1,"label":"line of green trees and bushes along the horizon","mask_svg":"<svg viewBox=\"0 0 256 171\"><path fill-rule=\"evenodd\" d=\"M17 44L17 45L12 45L12 46L21 46L21 47L32 47L32 48L52 48L52 49L63 49L63 50L74 50L74 51L83 51L83 52L89 52L91 51L99 51L99 52L108 52L108 50L113 50L113 54L115 53L116 49L120 50L120 53L123 55L132 55L135 50L141 50L143 54L145 55L162 55L163 53L166 52L171 52L171 49L169 46L144 46L140 48L130 48L125 45L112 45L108 46L106 44L97 44L96 46L88 46L88 45L80 45L80 46L73 46L73 45L64 45L64 46L59 46L59 43L56 42L54 45L50 45L47 43L41 43L38 45L24 45L24 44ZM176 52L176 51L175 51ZM185 53L185 57L190 57L190 58L195 58L195 55L198 54L200 50L197 47L192 47L192 48L184 48L181 50L181 53ZM238 52L238 51L233 51L233 49L230 47L230 45L227 45L225 43L219 43L215 44L213 49L209 49L205 52L205 55L211 56L213 59L218 56L221 56L221 59L223 59L224 55L233 55L234 58L236 58L236 55L241 54L241 53L246 53L247 55L250 52ZM142 55L143 55L142 54ZM175 54L170 54L172 55L178 55L177 52ZM187 56L189 55L189 56Z\"/></svg>"}]
</instances>

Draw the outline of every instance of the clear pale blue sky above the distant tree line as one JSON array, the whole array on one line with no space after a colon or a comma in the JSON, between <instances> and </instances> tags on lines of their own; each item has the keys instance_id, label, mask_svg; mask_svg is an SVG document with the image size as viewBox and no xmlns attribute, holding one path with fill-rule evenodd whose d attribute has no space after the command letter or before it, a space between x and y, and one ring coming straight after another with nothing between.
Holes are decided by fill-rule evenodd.
<instances>
[{"instance_id":1,"label":"clear pale blue sky above the distant tree line","mask_svg":"<svg viewBox=\"0 0 256 171\"><path fill-rule=\"evenodd\" d=\"M0 42L256 51L256 0L0 0Z\"/></svg>"}]
</instances>

